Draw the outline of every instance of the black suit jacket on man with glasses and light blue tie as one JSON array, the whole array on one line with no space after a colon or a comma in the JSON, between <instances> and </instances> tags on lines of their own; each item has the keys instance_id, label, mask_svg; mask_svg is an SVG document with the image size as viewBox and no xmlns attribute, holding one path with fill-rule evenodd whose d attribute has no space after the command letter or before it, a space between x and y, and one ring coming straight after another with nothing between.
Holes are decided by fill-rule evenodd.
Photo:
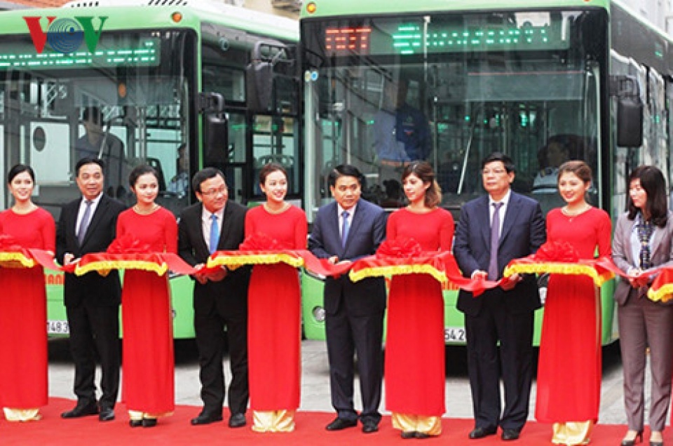
<instances>
[{"instance_id":1,"label":"black suit jacket on man with glasses and light blue tie","mask_svg":"<svg viewBox=\"0 0 673 446\"><path fill-rule=\"evenodd\" d=\"M192 266L205 264L210 256L208 245L203 238L201 214L203 204L196 203L182 210L178 227L178 254ZM247 208L233 201L227 201L224 207L222 227L220 227L218 250L238 250L245 237L245 212ZM247 302L247 285L250 281L250 266L241 266L228 271L222 281L207 283L194 282L194 309L210 311L215 298L227 295L229 298Z\"/></svg>"}]
</instances>

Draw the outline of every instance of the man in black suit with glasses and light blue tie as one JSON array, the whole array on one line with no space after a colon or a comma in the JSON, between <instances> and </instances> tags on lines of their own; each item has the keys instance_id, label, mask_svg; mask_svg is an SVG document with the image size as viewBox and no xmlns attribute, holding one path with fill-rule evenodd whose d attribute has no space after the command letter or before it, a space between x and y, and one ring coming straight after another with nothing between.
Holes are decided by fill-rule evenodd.
<instances>
[{"instance_id":1,"label":"man in black suit with glasses and light blue tie","mask_svg":"<svg viewBox=\"0 0 673 446\"><path fill-rule=\"evenodd\" d=\"M192 180L200 203L182 211L178 224L178 251L185 262L205 265L215 250L236 250L245 236L247 208L229 201L224 174L216 168L199 170ZM194 283L194 329L198 347L199 379L203 410L191 424L222 421L225 332L229 339L231 384L230 427L245 426L247 386L247 286L250 268L216 273L196 273Z\"/></svg>"}]
</instances>

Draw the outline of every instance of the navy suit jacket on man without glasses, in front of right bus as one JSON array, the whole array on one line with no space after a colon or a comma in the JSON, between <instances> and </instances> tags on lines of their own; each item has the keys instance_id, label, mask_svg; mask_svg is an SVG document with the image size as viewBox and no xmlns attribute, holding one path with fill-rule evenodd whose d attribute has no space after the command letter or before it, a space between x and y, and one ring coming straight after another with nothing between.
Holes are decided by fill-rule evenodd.
<instances>
[{"instance_id":1,"label":"navy suit jacket on man without glasses, in front of right bus","mask_svg":"<svg viewBox=\"0 0 673 446\"><path fill-rule=\"evenodd\" d=\"M353 214L346 245L341 246L337 202L322 206L313 222L308 238L308 249L316 257L333 255L341 260L355 260L372 255L386 238L386 212L365 200L359 200ZM325 279L325 311L337 313L339 306L346 305L353 316L367 316L386 308L386 283L383 278L366 278L353 282L344 274L339 278Z\"/></svg>"}]
</instances>

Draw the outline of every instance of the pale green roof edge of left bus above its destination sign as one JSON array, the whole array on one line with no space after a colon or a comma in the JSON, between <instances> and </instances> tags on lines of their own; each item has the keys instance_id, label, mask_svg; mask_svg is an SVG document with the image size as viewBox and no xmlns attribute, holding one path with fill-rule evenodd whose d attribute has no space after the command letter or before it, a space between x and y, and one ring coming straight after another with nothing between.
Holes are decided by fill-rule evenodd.
<instances>
[{"instance_id":1,"label":"pale green roof edge of left bus above its destination sign","mask_svg":"<svg viewBox=\"0 0 673 446\"><path fill-rule=\"evenodd\" d=\"M47 28L47 17L76 18L78 16L107 16L104 29L157 29L184 28L198 29L201 22L242 29L248 32L273 36L292 41L299 40L297 20L283 18L226 5L218 1L200 0L190 2L156 0L98 0L72 1L62 8L35 8L18 11L4 11L0 14L1 34L27 34L25 16L40 16L43 29ZM95 4L95 6L90 6ZM172 20L173 13L182 14L182 20Z\"/></svg>"}]
</instances>

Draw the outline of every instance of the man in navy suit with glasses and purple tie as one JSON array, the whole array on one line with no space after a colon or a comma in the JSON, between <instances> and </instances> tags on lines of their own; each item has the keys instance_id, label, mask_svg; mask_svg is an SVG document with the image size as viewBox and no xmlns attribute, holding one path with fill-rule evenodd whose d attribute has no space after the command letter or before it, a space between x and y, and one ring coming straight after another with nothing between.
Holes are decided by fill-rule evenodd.
<instances>
[{"instance_id":1,"label":"man in navy suit with glasses and purple tie","mask_svg":"<svg viewBox=\"0 0 673 446\"><path fill-rule=\"evenodd\" d=\"M488 196L463 205L454 241L454 256L467 277L497 281L510 260L533 254L545 242L540 205L510 190L514 177L515 166L508 156L494 153L482 161ZM493 435L498 426L503 429L503 440L519 438L528 417L533 376L533 312L540 306L534 276L512 276L480 296L463 290L458 293L458 310L465 314L475 412L470 438ZM502 415L501 376L505 386Z\"/></svg>"}]
</instances>

